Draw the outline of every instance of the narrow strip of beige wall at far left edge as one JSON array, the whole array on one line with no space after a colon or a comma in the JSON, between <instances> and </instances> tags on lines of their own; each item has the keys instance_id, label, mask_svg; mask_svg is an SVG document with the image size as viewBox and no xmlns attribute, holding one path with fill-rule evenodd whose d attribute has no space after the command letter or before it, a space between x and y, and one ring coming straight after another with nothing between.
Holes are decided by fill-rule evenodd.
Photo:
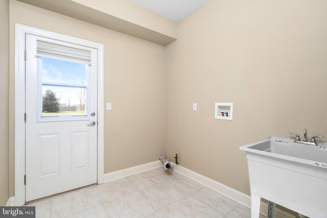
<instances>
[{"instance_id":1,"label":"narrow strip of beige wall at far left edge","mask_svg":"<svg viewBox=\"0 0 327 218\"><path fill-rule=\"evenodd\" d=\"M8 180L8 94L9 94L9 0L0 1L0 206L9 198Z\"/></svg>"}]
</instances>

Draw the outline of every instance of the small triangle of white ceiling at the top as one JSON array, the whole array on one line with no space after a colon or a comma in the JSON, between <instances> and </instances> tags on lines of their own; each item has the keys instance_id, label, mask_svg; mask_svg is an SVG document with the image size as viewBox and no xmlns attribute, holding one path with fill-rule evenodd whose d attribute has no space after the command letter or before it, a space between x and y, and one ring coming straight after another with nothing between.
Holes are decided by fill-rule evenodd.
<instances>
[{"instance_id":1,"label":"small triangle of white ceiling at the top","mask_svg":"<svg viewBox=\"0 0 327 218\"><path fill-rule=\"evenodd\" d=\"M208 0L131 0L147 9L179 21Z\"/></svg>"}]
</instances>

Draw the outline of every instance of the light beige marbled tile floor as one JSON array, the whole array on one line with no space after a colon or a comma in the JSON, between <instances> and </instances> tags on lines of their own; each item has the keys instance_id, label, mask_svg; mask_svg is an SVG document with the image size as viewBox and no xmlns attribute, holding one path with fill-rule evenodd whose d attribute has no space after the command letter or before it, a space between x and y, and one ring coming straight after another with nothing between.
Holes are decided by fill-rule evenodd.
<instances>
[{"instance_id":1,"label":"light beige marbled tile floor","mask_svg":"<svg viewBox=\"0 0 327 218\"><path fill-rule=\"evenodd\" d=\"M250 217L250 209L161 167L27 206L36 206L40 218Z\"/></svg>"}]
</instances>

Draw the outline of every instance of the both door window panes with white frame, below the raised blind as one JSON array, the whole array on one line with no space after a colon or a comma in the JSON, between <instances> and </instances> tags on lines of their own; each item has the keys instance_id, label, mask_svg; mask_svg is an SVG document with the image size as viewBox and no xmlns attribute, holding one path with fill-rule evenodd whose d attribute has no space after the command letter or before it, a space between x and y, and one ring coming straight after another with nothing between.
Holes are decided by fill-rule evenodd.
<instances>
[{"instance_id":1,"label":"both door window panes with white frame, below the raised blind","mask_svg":"<svg viewBox=\"0 0 327 218\"><path fill-rule=\"evenodd\" d=\"M38 64L38 121L87 118L89 65L44 57Z\"/></svg>"}]
</instances>

